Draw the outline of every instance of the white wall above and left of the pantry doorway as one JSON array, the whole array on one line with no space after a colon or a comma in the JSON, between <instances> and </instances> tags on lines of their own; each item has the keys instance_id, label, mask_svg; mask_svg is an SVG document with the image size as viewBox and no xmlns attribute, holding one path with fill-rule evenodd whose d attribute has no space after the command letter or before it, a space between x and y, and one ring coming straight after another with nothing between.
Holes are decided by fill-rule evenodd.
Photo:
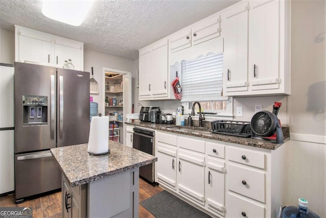
<instances>
[{"instance_id":1,"label":"white wall above and left of the pantry doorway","mask_svg":"<svg viewBox=\"0 0 326 218\"><path fill-rule=\"evenodd\" d=\"M92 78L92 67L94 70L94 79L98 83L99 94L91 94L91 96L93 96L93 102L98 103L98 112L104 114L105 111L102 111L105 101L103 90L103 84L105 82L103 67L132 72L135 71L133 69L133 61L126 58L120 58L117 56L84 49L84 71L90 72L90 78Z\"/></svg>"}]
</instances>

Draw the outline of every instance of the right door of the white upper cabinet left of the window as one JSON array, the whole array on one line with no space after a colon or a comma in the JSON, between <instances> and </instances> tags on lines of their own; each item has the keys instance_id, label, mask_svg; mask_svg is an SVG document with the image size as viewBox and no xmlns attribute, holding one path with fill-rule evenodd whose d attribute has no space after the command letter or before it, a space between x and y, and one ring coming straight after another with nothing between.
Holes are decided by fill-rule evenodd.
<instances>
[{"instance_id":1,"label":"right door of the white upper cabinet left of the window","mask_svg":"<svg viewBox=\"0 0 326 218\"><path fill-rule=\"evenodd\" d=\"M168 40L152 45L151 93L159 97L168 96Z\"/></svg>"}]
</instances>

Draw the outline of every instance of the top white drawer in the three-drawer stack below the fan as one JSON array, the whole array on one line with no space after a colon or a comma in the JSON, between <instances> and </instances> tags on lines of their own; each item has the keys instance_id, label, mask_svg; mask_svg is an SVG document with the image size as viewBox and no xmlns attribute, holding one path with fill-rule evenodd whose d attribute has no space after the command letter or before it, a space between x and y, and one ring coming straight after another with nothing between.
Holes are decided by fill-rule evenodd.
<instances>
[{"instance_id":1,"label":"top white drawer in the three-drawer stack below the fan","mask_svg":"<svg viewBox=\"0 0 326 218\"><path fill-rule=\"evenodd\" d=\"M265 168L265 155L254 151L228 148L228 159L234 162L255 166L264 169Z\"/></svg>"}]
</instances>

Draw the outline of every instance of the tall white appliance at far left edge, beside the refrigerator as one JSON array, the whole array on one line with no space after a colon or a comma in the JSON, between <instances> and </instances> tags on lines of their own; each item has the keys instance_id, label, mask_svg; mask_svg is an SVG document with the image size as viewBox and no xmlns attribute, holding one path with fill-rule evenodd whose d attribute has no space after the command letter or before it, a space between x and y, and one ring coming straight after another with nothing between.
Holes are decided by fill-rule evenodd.
<instances>
[{"instance_id":1,"label":"tall white appliance at far left edge, beside the refrigerator","mask_svg":"<svg viewBox=\"0 0 326 218\"><path fill-rule=\"evenodd\" d=\"M0 196L14 192L14 65L0 63Z\"/></svg>"}]
</instances>

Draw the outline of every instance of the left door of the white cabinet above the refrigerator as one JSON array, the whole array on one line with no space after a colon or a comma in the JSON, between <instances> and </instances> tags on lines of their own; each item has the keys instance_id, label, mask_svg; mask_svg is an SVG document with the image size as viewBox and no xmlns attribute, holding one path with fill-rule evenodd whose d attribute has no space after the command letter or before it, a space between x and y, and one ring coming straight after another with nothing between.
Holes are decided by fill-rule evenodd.
<instances>
[{"instance_id":1,"label":"left door of the white cabinet above the refrigerator","mask_svg":"<svg viewBox=\"0 0 326 218\"><path fill-rule=\"evenodd\" d=\"M17 35L16 61L53 64L51 37L24 29L17 30Z\"/></svg>"}]
</instances>

